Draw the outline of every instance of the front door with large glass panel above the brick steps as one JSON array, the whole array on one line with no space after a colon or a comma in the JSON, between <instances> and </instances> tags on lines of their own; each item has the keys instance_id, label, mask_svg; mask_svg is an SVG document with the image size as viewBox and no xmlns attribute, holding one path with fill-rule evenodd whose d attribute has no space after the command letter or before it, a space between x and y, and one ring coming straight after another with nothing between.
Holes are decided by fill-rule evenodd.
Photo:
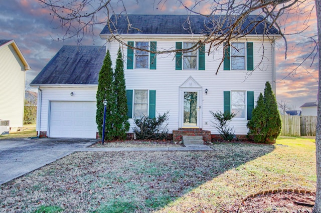
<instances>
[{"instance_id":1,"label":"front door with large glass panel above the brick steps","mask_svg":"<svg viewBox=\"0 0 321 213\"><path fill-rule=\"evenodd\" d=\"M184 91L183 127L197 127L199 116L198 91Z\"/></svg>"}]
</instances>

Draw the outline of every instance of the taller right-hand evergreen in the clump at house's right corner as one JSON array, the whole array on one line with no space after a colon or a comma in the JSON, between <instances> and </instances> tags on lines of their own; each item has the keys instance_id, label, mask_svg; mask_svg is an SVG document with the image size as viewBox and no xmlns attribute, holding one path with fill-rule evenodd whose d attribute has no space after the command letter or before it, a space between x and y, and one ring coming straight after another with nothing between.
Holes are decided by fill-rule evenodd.
<instances>
[{"instance_id":1,"label":"taller right-hand evergreen in the clump at house's right corner","mask_svg":"<svg viewBox=\"0 0 321 213\"><path fill-rule=\"evenodd\" d=\"M267 135L265 141L273 142L281 133L282 121L277 107L275 95L273 94L271 84L268 81L265 83L264 104L267 118Z\"/></svg>"}]
</instances>

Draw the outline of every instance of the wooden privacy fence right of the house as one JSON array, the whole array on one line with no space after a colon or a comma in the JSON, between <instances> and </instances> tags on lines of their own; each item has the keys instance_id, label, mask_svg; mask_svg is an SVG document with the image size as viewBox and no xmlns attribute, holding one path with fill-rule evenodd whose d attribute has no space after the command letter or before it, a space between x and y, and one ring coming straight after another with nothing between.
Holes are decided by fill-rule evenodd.
<instances>
[{"instance_id":1,"label":"wooden privacy fence right of the house","mask_svg":"<svg viewBox=\"0 0 321 213\"><path fill-rule=\"evenodd\" d=\"M315 136L316 116L281 115L282 131L285 136Z\"/></svg>"}]
</instances>

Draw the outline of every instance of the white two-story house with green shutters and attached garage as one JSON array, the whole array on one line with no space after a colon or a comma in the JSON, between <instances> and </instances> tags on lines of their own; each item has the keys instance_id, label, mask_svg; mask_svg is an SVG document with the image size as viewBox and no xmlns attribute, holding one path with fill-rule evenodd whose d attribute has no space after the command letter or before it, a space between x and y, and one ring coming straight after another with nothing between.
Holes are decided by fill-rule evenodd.
<instances>
[{"instance_id":1,"label":"white two-story house with green shutters and attached garage","mask_svg":"<svg viewBox=\"0 0 321 213\"><path fill-rule=\"evenodd\" d=\"M245 138L246 124L260 92L264 92L266 81L272 84L275 92L274 40L279 37L277 30L271 27L270 35L263 36L264 24L258 24L246 37L233 40L225 51L222 46L209 52L210 44L206 44L198 50L182 52L179 49L204 39L204 16L190 15L190 28L183 27L186 15L128 17L132 26L139 30L127 30L128 22L124 17L114 21L117 30L113 33L117 33L125 44L154 51L178 49L177 53L168 54L134 50L112 39L107 26L101 31L113 64L119 47L123 52L131 124L128 135L132 132L134 117L142 114L155 117L169 111L169 134L173 134L174 140L181 139L182 134L203 135L205 140L210 140L218 134L209 112L212 110L237 113L230 127L234 127L238 137ZM261 17L250 15L244 24L256 18ZM91 49L92 55L87 55L82 48ZM78 54L76 49L79 49ZM104 54L101 47L64 46L32 81L31 85L39 88L38 106L41 107L38 107L37 131L40 135L96 136L97 125L92 126L92 123L99 65ZM224 63L216 74L224 54ZM96 60L94 66L90 64L92 60ZM79 113L71 114L71 111ZM88 122L82 120L85 112L91 113ZM72 129L67 129L66 125ZM86 134L84 130L87 130Z\"/></svg>"}]
</instances>

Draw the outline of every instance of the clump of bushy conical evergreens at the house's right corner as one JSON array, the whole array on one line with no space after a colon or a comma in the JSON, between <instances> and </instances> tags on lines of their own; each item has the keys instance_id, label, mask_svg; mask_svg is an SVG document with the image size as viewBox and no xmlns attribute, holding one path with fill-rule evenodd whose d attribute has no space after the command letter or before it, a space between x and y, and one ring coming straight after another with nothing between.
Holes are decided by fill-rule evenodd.
<instances>
[{"instance_id":1,"label":"clump of bushy conical evergreens at the house's right corner","mask_svg":"<svg viewBox=\"0 0 321 213\"><path fill-rule=\"evenodd\" d=\"M264 97L262 93L258 97L247 127L248 135L253 136L254 141L259 143L274 143L281 132L281 117L269 82L265 83Z\"/></svg>"}]
</instances>

